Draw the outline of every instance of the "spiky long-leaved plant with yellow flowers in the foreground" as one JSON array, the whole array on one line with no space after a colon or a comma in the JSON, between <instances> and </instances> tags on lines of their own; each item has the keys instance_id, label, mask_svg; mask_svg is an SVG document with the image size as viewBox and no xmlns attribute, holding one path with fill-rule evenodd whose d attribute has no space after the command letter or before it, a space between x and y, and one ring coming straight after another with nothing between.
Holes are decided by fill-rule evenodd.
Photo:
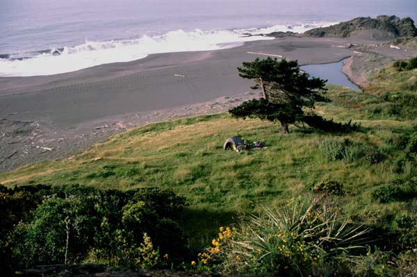
<instances>
[{"instance_id":1,"label":"spiky long-leaved plant with yellow flowers in the foreground","mask_svg":"<svg viewBox=\"0 0 417 277\"><path fill-rule=\"evenodd\" d=\"M249 215L238 228L220 228L213 246L199 255L229 273L277 276L346 274L368 230L348 223L318 201L293 201Z\"/></svg>"}]
</instances>

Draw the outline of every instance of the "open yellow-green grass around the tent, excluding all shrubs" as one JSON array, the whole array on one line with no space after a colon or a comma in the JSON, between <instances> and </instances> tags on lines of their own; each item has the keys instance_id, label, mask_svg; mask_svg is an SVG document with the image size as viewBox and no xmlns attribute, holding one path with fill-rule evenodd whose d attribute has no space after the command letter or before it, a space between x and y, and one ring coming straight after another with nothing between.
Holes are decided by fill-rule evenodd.
<instances>
[{"instance_id":1,"label":"open yellow-green grass around the tent, excluding all shrubs","mask_svg":"<svg viewBox=\"0 0 417 277\"><path fill-rule=\"evenodd\" d=\"M375 78L390 78L393 89L404 78L413 76L404 77L404 72L395 74L387 70L391 76L385 72ZM386 151L384 162L370 165L362 160L331 162L318 149L318 144L329 137L348 137L369 148L384 149L393 134L415 131L411 121L383 119L366 112L368 106L381 102L377 96L380 90L375 85L372 94L361 94L329 86L329 96L334 101L318 106L317 110L326 118L360 122L362 130L349 135L295 127L290 135L281 135L279 126L270 122L236 120L229 115L179 119L116 135L67 160L44 161L0 174L0 183L8 186L79 183L122 190L172 188L190 203L185 227L194 246L206 245L217 227L232 221L236 213L297 197L305 193L306 184L324 178L345 186L348 193L341 201L347 215L399 209L400 202L375 203L370 192L393 178L392 162L400 151ZM268 148L240 153L223 151L224 140L232 135L261 140ZM398 176L407 174L405 170Z\"/></svg>"}]
</instances>

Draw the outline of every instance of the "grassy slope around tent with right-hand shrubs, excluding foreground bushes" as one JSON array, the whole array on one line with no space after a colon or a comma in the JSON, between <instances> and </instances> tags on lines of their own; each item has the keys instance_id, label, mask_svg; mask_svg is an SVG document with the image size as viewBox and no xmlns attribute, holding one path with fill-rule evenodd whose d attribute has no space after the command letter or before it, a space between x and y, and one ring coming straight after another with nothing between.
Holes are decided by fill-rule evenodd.
<instances>
[{"instance_id":1,"label":"grassy slope around tent with right-hand shrubs, excluding foreground bushes","mask_svg":"<svg viewBox=\"0 0 417 277\"><path fill-rule=\"evenodd\" d=\"M234 223L240 212L323 194L348 221L370 226L382 239L377 245L417 249L417 106L412 101L417 92L409 85L416 74L416 69L388 67L364 92L328 86L332 102L316 112L335 121L352 119L361 126L352 133L293 126L282 135L279 124L227 114L178 119L135 128L66 160L0 174L0 183L173 190L190 204L181 226L191 249L208 246L218 227ZM224 140L233 135L267 147L224 151Z\"/></svg>"}]
</instances>

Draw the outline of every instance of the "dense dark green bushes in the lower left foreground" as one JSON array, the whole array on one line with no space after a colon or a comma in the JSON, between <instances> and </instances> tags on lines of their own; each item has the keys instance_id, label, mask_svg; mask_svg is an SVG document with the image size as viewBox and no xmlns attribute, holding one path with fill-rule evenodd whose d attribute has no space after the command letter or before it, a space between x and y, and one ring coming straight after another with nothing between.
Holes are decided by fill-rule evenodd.
<instances>
[{"instance_id":1,"label":"dense dark green bushes in the lower left foreground","mask_svg":"<svg viewBox=\"0 0 417 277\"><path fill-rule=\"evenodd\" d=\"M41 194L42 202L33 205L31 215L16 227L6 228L11 245L2 250L9 250L15 267L83 260L113 260L114 265L136 267L137 259L145 257L141 251L152 244L149 237L154 238L155 251L165 254L164 263L158 266L167 265L168 256L171 262L179 262L186 255L186 239L175 221L186 203L173 192L65 186L49 187ZM149 234L145 242L144 233ZM170 240L176 243L166 245ZM140 267L150 265L149 260Z\"/></svg>"}]
</instances>

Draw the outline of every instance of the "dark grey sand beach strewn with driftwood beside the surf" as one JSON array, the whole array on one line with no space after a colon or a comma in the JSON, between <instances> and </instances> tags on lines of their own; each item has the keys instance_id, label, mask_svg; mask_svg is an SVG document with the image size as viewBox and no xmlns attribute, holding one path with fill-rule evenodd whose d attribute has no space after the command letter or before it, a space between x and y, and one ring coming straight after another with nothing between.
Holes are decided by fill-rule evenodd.
<instances>
[{"instance_id":1,"label":"dark grey sand beach strewn with driftwood beside the surf","mask_svg":"<svg viewBox=\"0 0 417 277\"><path fill-rule=\"evenodd\" d=\"M126 128L225 112L257 96L236 67L265 58L259 53L323 64L359 56L343 47L350 43L379 42L284 37L231 49L152 54L65 74L0 78L0 172L67 158Z\"/></svg>"}]
</instances>

